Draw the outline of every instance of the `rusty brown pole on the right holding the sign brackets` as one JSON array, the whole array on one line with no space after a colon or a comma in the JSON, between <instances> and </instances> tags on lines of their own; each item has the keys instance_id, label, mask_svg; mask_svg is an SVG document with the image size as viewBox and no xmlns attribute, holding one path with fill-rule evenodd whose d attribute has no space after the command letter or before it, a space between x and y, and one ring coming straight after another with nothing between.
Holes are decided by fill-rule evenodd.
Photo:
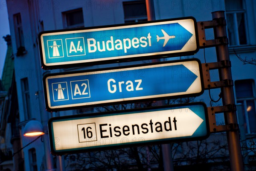
<instances>
[{"instance_id":1,"label":"rusty brown pole on the right holding the sign brackets","mask_svg":"<svg viewBox=\"0 0 256 171\"><path fill-rule=\"evenodd\" d=\"M212 12L212 20L224 20L225 14L224 11ZM227 37L226 26L221 22L218 26L214 27L214 36L215 39L219 37ZM228 45L221 44L216 46L216 53L218 61L230 61ZM219 69L220 81L229 79L232 80L231 68L221 68ZM222 92L222 103L223 105L235 104L235 96L233 87L223 87L221 88ZM237 124L236 111L225 112L224 118L226 125L228 124ZM244 171L243 160L241 155L241 146L239 139L239 130L230 130L227 131L227 143L230 155L230 165L232 171Z\"/></svg>"}]
</instances>

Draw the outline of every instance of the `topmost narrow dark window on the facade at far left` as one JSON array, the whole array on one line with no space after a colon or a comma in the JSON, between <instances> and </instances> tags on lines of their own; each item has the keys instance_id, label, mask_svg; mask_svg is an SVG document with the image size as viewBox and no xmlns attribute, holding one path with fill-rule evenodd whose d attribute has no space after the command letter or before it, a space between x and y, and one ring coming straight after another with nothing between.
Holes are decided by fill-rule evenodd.
<instances>
[{"instance_id":1,"label":"topmost narrow dark window on the facade at far left","mask_svg":"<svg viewBox=\"0 0 256 171\"><path fill-rule=\"evenodd\" d=\"M17 45L17 56L20 56L20 55L23 55L25 52L24 35L23 35L23 28L22 28L20 13L14 15L14 26L15 26L15 38L16 38L16 45Z\"/></svg>"}]
</instances>

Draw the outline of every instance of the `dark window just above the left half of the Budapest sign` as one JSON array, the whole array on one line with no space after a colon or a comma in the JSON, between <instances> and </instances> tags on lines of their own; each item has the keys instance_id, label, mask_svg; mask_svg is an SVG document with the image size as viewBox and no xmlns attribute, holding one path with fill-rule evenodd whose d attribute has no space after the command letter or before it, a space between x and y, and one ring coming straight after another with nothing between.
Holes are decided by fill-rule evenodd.
<instances>
[{"instance_id":1,"label":"dark window just above the left half of the Budapest sign","mask_svg":"<svg viewBox=\"0 0 256 171\"><path fill-rule=\"evenodd\" d=\"M84 16L82 9L76 9L62 13L64 18L64 28L84 27Z\"/></svg>"}]
</instances>

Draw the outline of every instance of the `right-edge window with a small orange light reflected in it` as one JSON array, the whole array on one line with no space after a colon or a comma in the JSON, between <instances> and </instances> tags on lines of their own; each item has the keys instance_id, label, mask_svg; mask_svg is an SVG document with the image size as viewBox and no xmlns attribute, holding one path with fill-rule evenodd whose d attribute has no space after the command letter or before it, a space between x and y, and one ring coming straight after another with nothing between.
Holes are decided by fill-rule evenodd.
<instances>
[{"instance_id":1,"label":"right-edge window with a small orange light reflected in it","mask_svg":"<svg viewBox=\"0 0 256 171\"><path fill-rule=\"evenodd\" d=\"M256 97L252 79L235 81L236 100L242 104L242 114L246 133L256 133Z\"/></svg>"}]
</instances>

